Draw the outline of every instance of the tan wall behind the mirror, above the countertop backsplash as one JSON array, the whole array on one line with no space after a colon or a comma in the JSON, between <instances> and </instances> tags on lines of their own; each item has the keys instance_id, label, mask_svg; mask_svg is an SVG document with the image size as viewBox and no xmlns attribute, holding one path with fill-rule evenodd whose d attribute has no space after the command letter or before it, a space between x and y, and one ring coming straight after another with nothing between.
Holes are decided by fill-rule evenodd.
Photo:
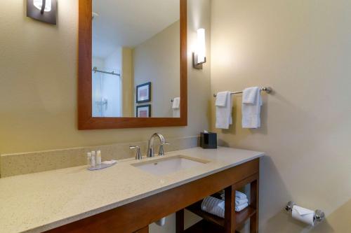
<instances>
[{"instance_id":1,"label":"tan wall behind the mirror, above the countertop backsplash","mask_svg":"<svg viewBox=\"0 0 351 233\"><path fill-rule=\"evenodd\" d=\"M25 17L25 2L4 1L0 8L0 153L143 141L156 131L194 136L208 127L209 69L194 71L189 60L188 108L198 110L190 111L189 127L77 130L78 0L58 1L57 26Z\"/></svg>"}]
</instances>

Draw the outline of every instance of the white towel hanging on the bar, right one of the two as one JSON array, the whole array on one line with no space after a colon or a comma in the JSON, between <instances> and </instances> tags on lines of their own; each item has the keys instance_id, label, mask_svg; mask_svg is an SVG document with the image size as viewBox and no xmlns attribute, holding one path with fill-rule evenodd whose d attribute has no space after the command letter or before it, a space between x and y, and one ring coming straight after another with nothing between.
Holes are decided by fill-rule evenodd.
<instances>
[{"instance_id":1,"label":"white towel hanging on the bar, right one of the two","mask_svg":"<svg viewBox=\"0 0 351 233\"><path fill-rule=\"evenodd\" d=\"M252 104L246 104L254 97ZM249 87L243 92L242 100L242 127L249 129L257 129L260 127L260 110L262 99L260 95L260 88Z\"/></svg>"}]
</instances>

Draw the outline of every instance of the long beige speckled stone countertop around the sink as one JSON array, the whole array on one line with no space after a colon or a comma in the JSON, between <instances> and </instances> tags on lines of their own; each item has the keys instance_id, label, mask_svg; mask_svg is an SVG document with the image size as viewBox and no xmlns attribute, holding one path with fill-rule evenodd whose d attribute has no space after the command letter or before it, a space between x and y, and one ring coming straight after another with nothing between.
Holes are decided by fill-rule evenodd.
<instances>
[{"instance_id":1,"label":"long beige speckled stone countertop around the sink","mask_svg":"<svg viewBox=\"0 0 351 233\"><path fill-rule=\"evenodd\" d=\"M0 231L44 232L67 223L114 209L138 199L203 178L263 156L234 148L191 148L166 153L201 160L191 169L154 176L132 166L138 161L120 160L98 171L86 166L0 178ZM103 157L103 155L102 155ZM157 160L145 158L141 162Z\"/></svg>"}]
</instances>

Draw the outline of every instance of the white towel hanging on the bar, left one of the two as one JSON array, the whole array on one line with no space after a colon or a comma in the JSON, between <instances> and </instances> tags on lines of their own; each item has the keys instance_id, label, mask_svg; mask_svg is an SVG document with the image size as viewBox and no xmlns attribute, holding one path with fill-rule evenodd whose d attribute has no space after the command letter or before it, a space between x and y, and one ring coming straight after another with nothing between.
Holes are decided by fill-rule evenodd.
<instances>
[{"instance_id":1,"label":"white towel hanging on the bar, left one of the two","mask_svg":"<svg viewBox=\"0 0 351 233\"><path fill-rule=\"evenodd\" d=\"M216 128L229 129L232 125L232 98L230 92L218 92L216 98Z\"/></svg>"}]
</instances>

